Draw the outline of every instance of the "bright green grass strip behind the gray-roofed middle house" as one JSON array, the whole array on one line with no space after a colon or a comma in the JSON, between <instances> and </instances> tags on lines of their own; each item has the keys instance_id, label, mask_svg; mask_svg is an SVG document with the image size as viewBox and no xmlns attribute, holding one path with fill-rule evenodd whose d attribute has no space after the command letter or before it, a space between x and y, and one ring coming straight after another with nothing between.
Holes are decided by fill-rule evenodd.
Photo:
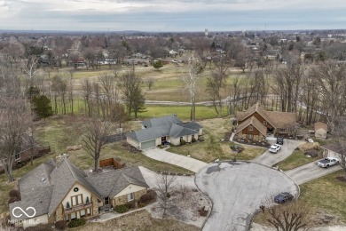
<instances>
[{"instance_id":1,"label":"bright green grass strip behind the gray-roofed middle house","mask_svg":"<svg viewBox=\"0 0 346 231\"><path fill-rule=\"evenodd\" d=\"M177 114L182 120L190 119L190 106L159 106L146 105L146 112L139 113L140 118L153 118ZM215 118L216 113L213 108L206 106L196 106L196 120Z\"/></svg>"}]
</instances>

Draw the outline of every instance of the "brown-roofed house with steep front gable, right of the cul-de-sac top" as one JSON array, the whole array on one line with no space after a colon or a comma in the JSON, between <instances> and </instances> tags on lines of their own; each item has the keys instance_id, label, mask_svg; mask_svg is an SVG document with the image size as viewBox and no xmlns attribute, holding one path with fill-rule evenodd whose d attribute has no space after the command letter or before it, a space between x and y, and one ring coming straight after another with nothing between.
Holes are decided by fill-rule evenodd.
<instances>
[{"instance_id":1,"label":"brown-roofed house with steep front gable, right of the cul-de-sac top","mask_svg":"<svg viewBox=\"0 0 346 231\"><path fill-rule=\"evenodd\" d=\"M237 138L263 141L267 133L293 135L297 116L290 112L267 111L257 102L245 112L238 112L237 121Z\"/></svg>"}]
</instances>

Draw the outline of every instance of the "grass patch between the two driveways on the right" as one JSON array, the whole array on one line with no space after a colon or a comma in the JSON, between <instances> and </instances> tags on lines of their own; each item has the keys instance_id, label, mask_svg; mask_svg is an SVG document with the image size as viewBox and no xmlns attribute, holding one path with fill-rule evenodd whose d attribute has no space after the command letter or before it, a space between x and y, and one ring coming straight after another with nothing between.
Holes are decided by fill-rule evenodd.
<instances>
[{"instance_id":1,"label":"grass patch between the two driveways on the right","mask_svg":"<svg viewBox=\"0 0 346 231\"><path fill-rule=\"evenodd\" d=\"M306 163L317 161L320 158L321 157L319 155L317 157L307 157L304 155L303 151L295 150L292 155L289 155L285 160L281 161L276 166L283 171L287 171L295 169L296 167L302 166Z\"/></svg>"}]
</instances>

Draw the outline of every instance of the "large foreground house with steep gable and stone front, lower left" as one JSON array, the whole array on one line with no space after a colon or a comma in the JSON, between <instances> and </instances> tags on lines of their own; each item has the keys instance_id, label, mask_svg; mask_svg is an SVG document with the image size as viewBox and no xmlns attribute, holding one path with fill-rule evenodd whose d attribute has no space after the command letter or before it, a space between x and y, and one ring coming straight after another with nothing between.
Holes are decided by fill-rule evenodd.
<instances>
[{"instance_id":1,"label":"large foreground house with steep gable and stone front, lower left","mask_svg":"<svg viewBox=\"0 0 346 231\"><path fill-rule=\"evenodd\" d=\"M35 216L20 216L22 223L18 224L24 228L94 218L99 212L138 200L146 193L148 186L138 167L87 176L67 157L59 155L19 179L21 200L9 204L12 220L19 219L18 208L25 211L29 207L35 209Z\"/></svg>"}]
</instances>

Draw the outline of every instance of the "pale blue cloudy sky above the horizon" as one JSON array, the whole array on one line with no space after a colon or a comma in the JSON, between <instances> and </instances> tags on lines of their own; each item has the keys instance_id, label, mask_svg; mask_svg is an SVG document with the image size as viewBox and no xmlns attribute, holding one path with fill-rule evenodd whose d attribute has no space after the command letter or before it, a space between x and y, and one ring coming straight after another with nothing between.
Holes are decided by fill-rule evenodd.
<instances>
[{"instance_id":1,"label":"pale blue cloudy sky above the horizon","mask_svg":"<svg viewBox=\"0 0 346 231\"><path fill-rule=\"evenodd\" d=\"M0 29L346 28L345 0L0 0Z\"/></svg>"}]
</instances>

